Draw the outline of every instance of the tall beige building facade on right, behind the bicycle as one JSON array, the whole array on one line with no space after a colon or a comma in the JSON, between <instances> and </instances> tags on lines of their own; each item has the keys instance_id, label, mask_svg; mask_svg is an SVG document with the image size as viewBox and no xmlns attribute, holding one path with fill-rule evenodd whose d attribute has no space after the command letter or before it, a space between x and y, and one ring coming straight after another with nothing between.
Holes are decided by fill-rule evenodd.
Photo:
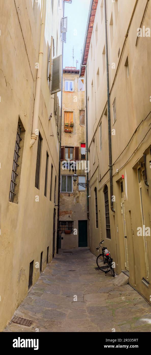
<instances>
[{"instance_id":1,"label":"tall beige building facade on right, behind the bicycle","mask_svg":"<svg viewBox=\"0 0 151 355\"><path fill-rule=\"evenodd\" d=\"M87 66L90 249L97 255L104 240L115 272L127 273L151 302L151 3L95 0L90 14L81 63ZM83 66L80 75L86 77Z\"/></svg>"}]
</instances>

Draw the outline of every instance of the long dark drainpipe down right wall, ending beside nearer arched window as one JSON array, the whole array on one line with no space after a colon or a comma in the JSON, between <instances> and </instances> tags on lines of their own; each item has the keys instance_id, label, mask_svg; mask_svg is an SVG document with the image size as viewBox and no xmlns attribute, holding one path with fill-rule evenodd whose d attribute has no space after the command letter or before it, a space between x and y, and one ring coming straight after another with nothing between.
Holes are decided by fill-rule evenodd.
<instances>
[{"instance_id":1,"label":"long dark drainpipe down right wall, ending beside nearer arched window","mask_svg":"<svg viewBox=\"0 0 151 355\"><path fill-rule=\"evenodd\" d=\"M113 185L112 185L112 150L111 150L111 118L110 118L110 87L109 87L109 56L108 56L108 29L107 29L107 14L106 0L104 0L105 9L105 44L106 44L106 71L107 71L107 94L108 94L108 131L109 131L109 169L110 169L110 203L111 211L115 212L113 207Z\"/></svg>"}]
</instances>

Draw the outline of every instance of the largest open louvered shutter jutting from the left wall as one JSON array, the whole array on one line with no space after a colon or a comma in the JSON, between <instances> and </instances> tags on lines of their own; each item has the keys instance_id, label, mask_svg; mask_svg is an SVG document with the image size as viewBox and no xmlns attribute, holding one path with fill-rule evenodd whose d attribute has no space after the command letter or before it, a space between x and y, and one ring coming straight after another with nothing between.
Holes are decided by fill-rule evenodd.
<instances>
[{"instance_id":1,"label":"largest open louvered shutter jutting from the left wall","mask_svg":"<svg viewBox=\"0 0 151 355\"><path fill-rule=\"evenodd\" d=\"M52 60L52 83L51 94L61 91L61 77L62 77L62 55L53 58Z\"/></svg>"}]
</instances>

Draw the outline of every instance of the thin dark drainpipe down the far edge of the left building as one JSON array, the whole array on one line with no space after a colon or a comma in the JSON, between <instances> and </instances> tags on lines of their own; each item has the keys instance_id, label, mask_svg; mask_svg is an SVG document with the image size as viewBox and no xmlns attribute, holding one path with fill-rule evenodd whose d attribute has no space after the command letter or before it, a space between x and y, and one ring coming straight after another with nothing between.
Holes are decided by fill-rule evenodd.
<instances>
[{"instance_id":1,"label":"thin dark drainpipe down the far edge of the left building","mask_svg":"<svg viewBox=\"0 0 151 355\"><path fill-rule=\"evenodd\" d=\"M64 17L64 1L63 1L63 17ZM62 94L63 94L63 42L62 42L62 80L61 80L61 120L60 120L60 147L59 147L59 173L58 173L58 214L57 214L57 250L59 251L59 210L60 210L60 164L61 164L61 138L62 138Z\"/></svg>"}]
</instances>

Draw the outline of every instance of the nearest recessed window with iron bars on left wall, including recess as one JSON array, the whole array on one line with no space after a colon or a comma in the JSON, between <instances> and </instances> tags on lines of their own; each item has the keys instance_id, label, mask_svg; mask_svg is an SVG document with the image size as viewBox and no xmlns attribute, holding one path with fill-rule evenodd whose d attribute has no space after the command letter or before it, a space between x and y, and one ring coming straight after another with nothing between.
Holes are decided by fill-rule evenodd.
<instances>
[{"instance_id":1,"label":"nearest recessed window with iron bars on left wall, including recess","mask_svg":"<svg viewBox=\"0 0 151 355\"><path fill-rule=\"evenodd\" d=\"M25 135L25 130L19 118L18 126L17 126L16 143L14 148L13 168L12 168L12 176L11 176L10 195L9 195L9 201L14 203L18 203L24 135Z\"/></svg>"}]
</instances>

